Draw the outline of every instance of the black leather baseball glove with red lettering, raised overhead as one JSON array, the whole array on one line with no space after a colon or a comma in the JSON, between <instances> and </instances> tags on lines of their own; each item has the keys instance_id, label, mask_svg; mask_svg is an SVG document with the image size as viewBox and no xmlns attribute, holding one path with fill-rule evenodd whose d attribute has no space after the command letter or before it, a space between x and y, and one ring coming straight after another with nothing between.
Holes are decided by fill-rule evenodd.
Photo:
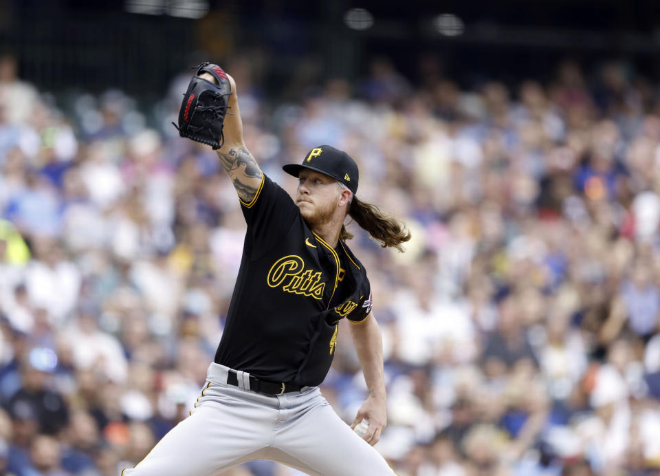
<instances>
[{"instance_id":1,"label":"black leather baseball glove with red lettering, raised overhead","mask_svg":"<svg viewBox=\"0 0 660 476\"><path fill-rule=\"evenodd\" d=\"M200 78L203 73L211 74L218 85ZM225 140L222 125L229 107L230 94L232 87L221 67L211 63L197 66L197 72L190 80L188 91L181 102L179 125L173 122L179 136L208 144L214 150L220 149Z\"/></svg>"}]
</instances>

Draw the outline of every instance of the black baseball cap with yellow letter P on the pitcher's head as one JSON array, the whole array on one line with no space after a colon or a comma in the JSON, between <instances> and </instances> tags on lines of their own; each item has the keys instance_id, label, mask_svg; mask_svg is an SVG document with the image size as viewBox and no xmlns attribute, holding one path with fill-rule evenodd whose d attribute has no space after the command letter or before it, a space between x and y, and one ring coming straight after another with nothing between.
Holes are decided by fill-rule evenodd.
<instances>
[{"instance_id":1,"label":"black baseball cap with yellow letter P on the pitcher's head","mask_svg":"<svg viewBox=\"0 0 660 476\"><path fill-rule=\"evenodd\" d=\"M309 169L320 173L325 173L353 192L358 191L358 164L351 156L344 151L335 149L330 145L320 145L314 147L305 155L303 163L287 164L282 167L286 173L298 177L300 169Z\"/></svg>"}]
</instances>

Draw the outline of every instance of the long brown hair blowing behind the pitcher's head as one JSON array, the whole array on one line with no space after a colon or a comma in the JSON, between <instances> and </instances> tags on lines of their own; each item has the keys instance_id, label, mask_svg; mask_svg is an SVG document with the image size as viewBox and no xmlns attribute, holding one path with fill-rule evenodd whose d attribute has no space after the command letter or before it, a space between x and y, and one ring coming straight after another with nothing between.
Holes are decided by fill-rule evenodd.
<instances>
[{"instance_id":1,"label":"long brown hair blowing behind the pitcher's head","mask_svg":"<svg viewBox=\"0 0 660 476\"><path fill-rule=\"evenodd\" d=\"M380 241L383 248L392 246L400 252L404 252L401 243L410 239L410 232L399 220L384 215L373 204L360 202L358 197L355 196L353 196L353 202L351 202L351 208L349 208L349 215L361 228L369 232L371 237ZM342 226L339 237L345 241L353 238L353 235L347 231L345 226Z\"/></svg>"}]
</instances>

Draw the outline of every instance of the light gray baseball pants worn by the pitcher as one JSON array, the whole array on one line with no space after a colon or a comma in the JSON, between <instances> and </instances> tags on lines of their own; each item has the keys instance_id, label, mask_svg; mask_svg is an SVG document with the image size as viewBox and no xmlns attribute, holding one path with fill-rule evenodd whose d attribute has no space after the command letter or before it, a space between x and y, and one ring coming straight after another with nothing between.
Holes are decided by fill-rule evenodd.
<instances>
[{"instance_id":1,"label":"light gray baseball pants worn by the pitcher","mask_svg":"<svg viewBox=\"0 0 660 476\"><path fill-rule=\"evenodd\" d=\"M228 385L212 363L195 409L122 476L214 476L252 459L271 459L309 475L394 475L385 459L344 423L318 387L281 396Z\"/></svg>"}]
</instances>

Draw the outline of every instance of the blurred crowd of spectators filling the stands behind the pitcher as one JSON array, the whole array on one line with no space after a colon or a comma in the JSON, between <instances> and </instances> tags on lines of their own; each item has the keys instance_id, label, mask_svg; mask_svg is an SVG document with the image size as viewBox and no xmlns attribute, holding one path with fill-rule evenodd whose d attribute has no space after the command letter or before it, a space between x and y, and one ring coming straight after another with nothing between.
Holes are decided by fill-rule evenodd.
<instances>
[{"instance_id":1,"label":"blurred crowd of spectators filling the stands behind the pitcher","mask_svg":"<svg viewBox=\"0 0 660 476\"><path fill-rule=\"evenodd\" d=\"M259 68L225 67L265 173L292 192L281 165L333 144L412 231L403 254L351 241L397 474L660 475L657 85L565 61L546 84L466 86L431 57L413 82L374 58L353 83L301 67L268 98ZM189 77L148 107L63 99L0 58L2 474L116 476L198 396L245 222L217 156L170 125ZM366 398L345 326L322 391L349 422Z\"/></svg>"}]
</instances>

